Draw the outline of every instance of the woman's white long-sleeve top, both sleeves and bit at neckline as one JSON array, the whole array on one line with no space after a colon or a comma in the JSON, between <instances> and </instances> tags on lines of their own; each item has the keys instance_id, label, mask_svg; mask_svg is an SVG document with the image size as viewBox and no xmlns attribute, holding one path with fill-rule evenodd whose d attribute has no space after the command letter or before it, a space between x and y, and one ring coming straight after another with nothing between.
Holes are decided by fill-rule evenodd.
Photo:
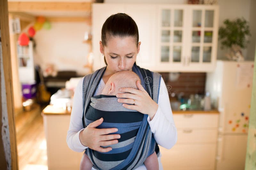
<instances>
[{"instance_id":1,"label":"woman's white long-sleeve top, both sleeves and bit at neckline","mask_svg":"<svg viewBox=\"0 0 256 170\"><path fill-rule=\"evenodd\" d=\"M68 147L76 152L83 152L87 148L87 146L82 145L79 140L79 133L84 129L82 123L83 79L84 78L79 81L75 90L70 124L67 134ZM93 96L101 94L104 86L105 83L101 79ZM177 130L173 121L168 91L162 77L160 81L160 90L157 104L158 109L154 118L150 120L148 116L148 124L156 140L156 143L164 148L170 149L177 141Z\"/></svg>"}]
</instances>

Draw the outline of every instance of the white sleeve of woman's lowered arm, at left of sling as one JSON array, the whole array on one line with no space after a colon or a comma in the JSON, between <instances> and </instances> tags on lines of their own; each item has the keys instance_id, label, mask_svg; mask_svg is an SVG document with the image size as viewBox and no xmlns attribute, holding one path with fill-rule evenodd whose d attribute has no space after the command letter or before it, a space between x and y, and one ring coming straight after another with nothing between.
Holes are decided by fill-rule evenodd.
<instances>
[{"instance_id":1,"label":"white sleeve of woman's lowered arm, at left of sling","mask_svg":"<svg viewBox=\"0 0 256 170\"><path fill-rule=\"evenodd\" d=\"M70 117L70 124L67 134L67 144L70 149L76 152L83 152L84 149L88 148L87 146L82 145L79 139L79 133L84 129L82 123L83 117L83 94L82 94L82 86L83 86L82 78L75 90L73 105Z\"/></svg>"}]
</instances>

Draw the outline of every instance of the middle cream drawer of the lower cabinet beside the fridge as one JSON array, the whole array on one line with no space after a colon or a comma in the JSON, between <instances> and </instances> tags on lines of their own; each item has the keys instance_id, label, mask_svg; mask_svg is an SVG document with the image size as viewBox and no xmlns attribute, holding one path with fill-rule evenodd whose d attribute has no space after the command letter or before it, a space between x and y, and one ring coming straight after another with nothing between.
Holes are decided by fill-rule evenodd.
<instances>
[{"instance_id":1,"label":"middle cream drawer of the lower cabinet beside the fridge","mask_svg":"<svg viewBox=\"0 0 256 170\"><path fill-rule=\"evenodd\" d=\"M192 129L183 128L177 129L178 140L177 144L203 144L216 143L217 128L213 129Z\"/></svg>"}]
</instances>

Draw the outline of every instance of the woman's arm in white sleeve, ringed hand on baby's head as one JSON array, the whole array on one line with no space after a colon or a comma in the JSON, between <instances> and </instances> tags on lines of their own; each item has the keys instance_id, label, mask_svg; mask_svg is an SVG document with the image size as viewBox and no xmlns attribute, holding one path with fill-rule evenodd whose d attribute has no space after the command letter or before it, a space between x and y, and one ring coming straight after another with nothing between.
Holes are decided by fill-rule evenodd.
<instances>
[{"instance_id":1,"label":"woman's arm in white sleeve, ringed hand on baby's head","mask_svg":"<svg viewBox=\"0 0 256 170\"><path fill-rule=\"evenodd\" d=\"M122 88L116 97L127 109L137 110L148 115L148 123L156 142L170 149L177 141L177 130L172 117L172 109L167 88L161 77L158 103L148 95L146 90L136 81L138 89ZM135 103L134 103L135 102ZM152 118L152 120L150 119ZM150 121L151 120L151 121Z\"/></svg>"}]
</instances>

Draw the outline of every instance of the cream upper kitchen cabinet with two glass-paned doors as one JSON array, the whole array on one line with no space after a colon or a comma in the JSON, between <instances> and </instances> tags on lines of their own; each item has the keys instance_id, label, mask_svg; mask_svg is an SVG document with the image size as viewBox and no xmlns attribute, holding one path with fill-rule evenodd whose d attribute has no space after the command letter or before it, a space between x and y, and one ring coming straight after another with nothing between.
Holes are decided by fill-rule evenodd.
<instances>
[{"instance_id":1,"label":"cream upper kitchen cabinet with two glass-paned doors","mask_svg":"<svg viewBox=\"0 0 256 170\"><path fill-rule=\"evenodd\" d=\"M218 10L216 5L159 5L156 71L213 71Z\"/></svg>"}]
</instances>

